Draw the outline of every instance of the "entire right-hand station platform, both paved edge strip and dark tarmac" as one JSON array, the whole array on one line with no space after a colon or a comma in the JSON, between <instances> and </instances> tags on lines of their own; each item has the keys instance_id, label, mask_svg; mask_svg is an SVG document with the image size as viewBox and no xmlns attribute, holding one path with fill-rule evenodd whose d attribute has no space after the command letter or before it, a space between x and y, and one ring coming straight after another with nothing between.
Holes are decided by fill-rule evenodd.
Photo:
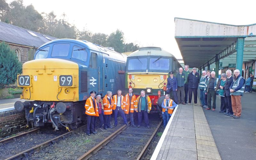
<instances>
[{"instance_id":1,"label":"entire right-hand station platform, both paved edge strip and dark tarmac","mask_svg":"<svg viewBox=\"0 0 256 160\"><path fill-rule=\"evenodd\" d=\"M200 97L198 92L198 97ZM242 113L235 119L205 110L200 101L178 105L151 157L159 159L254 159L256 157L256 93L244 93ZM193 99L193 98L192 98Z\"/></svg>"}]
</instances>

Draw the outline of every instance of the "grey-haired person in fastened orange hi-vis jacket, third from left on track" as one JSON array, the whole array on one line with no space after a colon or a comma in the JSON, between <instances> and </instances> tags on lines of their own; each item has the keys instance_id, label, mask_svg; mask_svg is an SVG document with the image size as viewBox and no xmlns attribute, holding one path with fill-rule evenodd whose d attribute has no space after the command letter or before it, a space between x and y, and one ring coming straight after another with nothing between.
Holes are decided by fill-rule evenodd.
<instances>
[{"instance_id":1,"label":"grey-haired person in fastened orange hi-vis jacket, third from left on track","mask_svg":"<svg viewBox=\"0 0 256 160\"><path fill-rule=\"evenodd\" d=\"M104 106L104 129L106 130L107 128L113 128L110 125L110 119L111 119L111 114L112 114L112 108L114 106L114 101L112 99L112 92L108 91L105 97L103 98L103 106Z\"/></svg>"}]
</instances>

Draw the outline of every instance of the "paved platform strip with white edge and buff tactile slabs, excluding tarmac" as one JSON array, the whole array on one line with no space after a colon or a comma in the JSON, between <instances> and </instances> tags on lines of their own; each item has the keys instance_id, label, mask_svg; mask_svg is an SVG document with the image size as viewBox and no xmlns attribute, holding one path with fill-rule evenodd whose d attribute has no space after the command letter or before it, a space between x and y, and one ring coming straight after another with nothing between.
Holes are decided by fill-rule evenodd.
<instances>
[{"instance_id":1,"label":"paved platform strip with white edge and buff tactile slabs, excluding tarmac","mask_svg":"<svg viewBox=\"0 0 256 160\"><path fill-rule=\"evenodd\" d=\"M197 104L175 108L151 160L221 159L204 111Z\"/></svg>"}]
</instances>

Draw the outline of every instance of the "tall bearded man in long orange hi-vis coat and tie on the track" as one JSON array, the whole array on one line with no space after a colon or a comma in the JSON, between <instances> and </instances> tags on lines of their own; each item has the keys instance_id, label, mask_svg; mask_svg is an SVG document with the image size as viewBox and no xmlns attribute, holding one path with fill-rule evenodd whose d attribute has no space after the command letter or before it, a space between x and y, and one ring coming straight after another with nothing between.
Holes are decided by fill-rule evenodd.
<instances>
[{"instance_id":1,"label":"tall bearded man in long orange hi-vis coat and tie on the track","mask_svg":"<svg viewBox=\"0 0 256 160\"><path fill-rule=\"evenodd\" d=\"M126 120L128 118L128 115L130 115L131 126L136 127L133 121L134 103L136 101L136 96L132 94L132 88L129 88L128 91L129 93L124 96L124 113L126 116Z\"/></svg>"}]
</instances>

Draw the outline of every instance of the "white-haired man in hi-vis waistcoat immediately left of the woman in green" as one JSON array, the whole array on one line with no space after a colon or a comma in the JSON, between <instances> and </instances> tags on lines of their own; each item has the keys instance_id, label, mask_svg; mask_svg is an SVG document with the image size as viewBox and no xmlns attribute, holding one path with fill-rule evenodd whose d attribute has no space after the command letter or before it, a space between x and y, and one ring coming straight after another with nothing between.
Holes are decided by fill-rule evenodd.
<instances>
[{"instance_id":1,"label":"white-haired man in hi-vis waistcoat immediately left of the woman in green","mask_svg":"<svg viewBox=\"0 0 256 160\"><path fill-rule=\"evenodd\" d=\"M207 95L207 107L205 110L215 111L216 108L216 92L215 88L217 87L219 78L215 77L215 72L211 72L209 80L205 84L204 93Z\"/></svg>"}]
</instances>

